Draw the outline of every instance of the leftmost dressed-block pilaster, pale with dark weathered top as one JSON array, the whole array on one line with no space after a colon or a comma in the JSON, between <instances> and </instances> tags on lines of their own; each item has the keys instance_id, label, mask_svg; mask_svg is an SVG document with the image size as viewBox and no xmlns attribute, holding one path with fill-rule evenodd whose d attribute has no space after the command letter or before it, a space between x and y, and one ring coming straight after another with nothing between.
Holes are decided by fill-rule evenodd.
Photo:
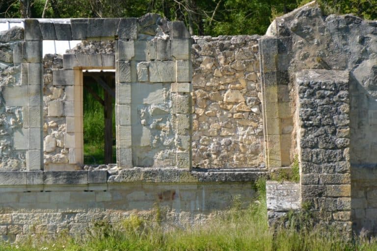
<instances>
[{"instance_id":1,"label":"leftmost dressed-block pilaster, pale with dark weathered top","mask_svg":"<svg viewBox=\"0 0 377 251\"><path fill-rule=\"evenodd\" d=\"M24 128L28 135L27 170L43 170L43 77L42 77L42 33L39 22L35 19L25 20L25 42L22 63L22 83L27 85L27 126Z\"/></svg>"}]
</instances>

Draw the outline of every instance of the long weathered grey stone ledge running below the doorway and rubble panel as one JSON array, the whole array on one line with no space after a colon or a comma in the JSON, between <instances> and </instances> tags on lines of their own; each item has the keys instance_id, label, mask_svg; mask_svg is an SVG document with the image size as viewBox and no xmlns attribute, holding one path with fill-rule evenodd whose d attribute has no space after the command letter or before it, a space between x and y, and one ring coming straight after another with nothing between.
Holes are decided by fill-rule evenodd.
<instances>
[{"instance_id":1,"label":"long weathered grey stone ledge running below the doorway and rubble panel","mask_svg":"<svg viewBox=\"0 0 377 251\"><path fill-rule=\"evenodd\" d=\"M177 168L130 168L118 171L9 171L0 172L0 186L88 185L112 183L254 182L268 177L267 169L207 170Z\"/></svg>"}]
</instances>

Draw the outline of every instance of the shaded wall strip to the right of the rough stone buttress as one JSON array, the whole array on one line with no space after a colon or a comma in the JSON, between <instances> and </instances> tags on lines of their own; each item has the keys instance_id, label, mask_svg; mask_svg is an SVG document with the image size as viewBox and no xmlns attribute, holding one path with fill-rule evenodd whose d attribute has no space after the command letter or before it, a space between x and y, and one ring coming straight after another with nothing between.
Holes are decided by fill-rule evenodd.
<instances>
[{"instance_id":1,"label":"shaded wall strip to the right of the rough stone buttress","mask_svg":"<svg viewBox=\"0 0 377 251\"><path fill-rule=\"evenodd\" d=\"M353 230L368 234L377 233L377 100L371 94L375 89L350 74L351 217Z\"/></svg>"}]
</instances>

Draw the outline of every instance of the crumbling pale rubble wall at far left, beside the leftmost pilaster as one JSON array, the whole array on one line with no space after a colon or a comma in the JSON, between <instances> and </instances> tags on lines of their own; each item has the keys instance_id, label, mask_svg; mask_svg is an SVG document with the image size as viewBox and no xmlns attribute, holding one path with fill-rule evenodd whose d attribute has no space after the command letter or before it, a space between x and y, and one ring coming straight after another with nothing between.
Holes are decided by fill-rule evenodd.
<instances>
[{"instance_id":1,"label":"crumbling pale rubble wall at far left, beside the leftmost pilaster","mask_svg":"<svg viewBox=\"0 0 377 251\"><path fill-rule=\"evenodd\" d=\"M20 139L26 128L27 83L21 79L20 48L24 31L12 28L0 36L0 170L26 170L25 142ZM22 53L22 52L21 52Z\"/></svg>"}]
</instances>

